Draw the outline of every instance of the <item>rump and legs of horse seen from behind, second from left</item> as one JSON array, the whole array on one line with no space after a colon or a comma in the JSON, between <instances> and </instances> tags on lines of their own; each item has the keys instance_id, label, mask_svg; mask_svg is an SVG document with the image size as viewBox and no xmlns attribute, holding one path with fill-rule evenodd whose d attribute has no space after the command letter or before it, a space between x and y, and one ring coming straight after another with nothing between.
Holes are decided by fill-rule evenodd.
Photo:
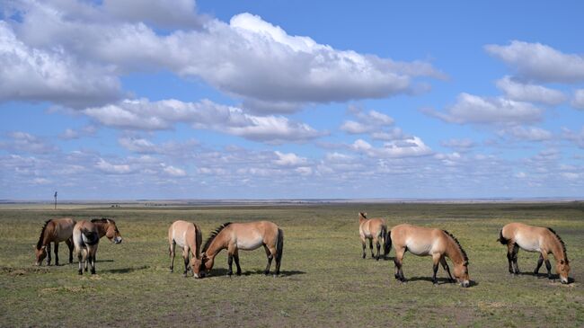
<instances>
[{"instance_id":1,"label":"rump and legs of horse seen from behind, second from left","mask_svg":"<svg viewBox=\"0 0 584 328\"><path fill-rule=\"evenodd\" d=\"M100 243L100 235L97 225L89 221L79 221L73 228L73 244L75 244L75 253L79 260L79 274L83 274L83 263L85 271L87 263L92 265L92 274L95 273L95 253L97 245Z\"/></svg>"}]
</instances>

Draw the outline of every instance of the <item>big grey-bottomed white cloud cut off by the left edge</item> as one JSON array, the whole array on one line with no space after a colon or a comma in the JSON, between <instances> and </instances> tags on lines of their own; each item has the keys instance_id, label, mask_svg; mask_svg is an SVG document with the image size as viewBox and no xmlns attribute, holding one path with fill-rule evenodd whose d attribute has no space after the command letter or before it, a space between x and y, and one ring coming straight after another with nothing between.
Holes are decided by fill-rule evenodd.
<instances>
[{"instance_id":1,"label":"big grey-bottomed white cloud cut off by the left edge","mask_svg":"<svg viewBox=\"0 0 584 328\"><path fill-rule=\"evenodd\" d=\"M58 102L72 107L120 96L119 80L103 66L80 63L64 49L31 48L0 21L0 101Z\"/></svg>"}]
</instances>

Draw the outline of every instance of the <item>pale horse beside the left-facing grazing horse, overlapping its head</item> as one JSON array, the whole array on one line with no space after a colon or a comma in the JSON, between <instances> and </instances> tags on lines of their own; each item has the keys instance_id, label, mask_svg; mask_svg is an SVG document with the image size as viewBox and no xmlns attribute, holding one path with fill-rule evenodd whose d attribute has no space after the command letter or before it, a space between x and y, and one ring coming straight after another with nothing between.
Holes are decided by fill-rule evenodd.
<instances>
[{"instance_id":1,"label":"pale horse beside the left-facing grazing horse, overlapping its head","mask_svg":"<svg viewBox=\"0 0 584 328\"><path fill-rule=\"evenodd\" d=\"M184 260L183 277L187 277L187 270L189 270L189 252L192 253L192 276L194 278L202 278L203 274L200 272L201 256L200 244L202 241L201 231L199 226L194 223L186 221L174 221L168 228L168 253L171 256L171 272L174 270L174 248L178 244L182 249L182 259Z\"/></svg>"}]
</instances>

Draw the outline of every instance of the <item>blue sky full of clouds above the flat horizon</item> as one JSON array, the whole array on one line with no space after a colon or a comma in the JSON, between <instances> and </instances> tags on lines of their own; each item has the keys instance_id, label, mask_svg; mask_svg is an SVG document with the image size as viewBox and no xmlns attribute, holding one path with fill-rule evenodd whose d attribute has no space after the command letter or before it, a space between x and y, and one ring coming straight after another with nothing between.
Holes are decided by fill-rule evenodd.
<instances>
[{"instance_id":1,"label":"blue sky full of clouds above the flat horizon","mask_svg":"<svg viewBox=\"0 0 584 328\"><path fill-rule=\"evenodd\" d=\"M0 4L0 199L584 198L584 4Z\"/></svg>"}]
</instances>

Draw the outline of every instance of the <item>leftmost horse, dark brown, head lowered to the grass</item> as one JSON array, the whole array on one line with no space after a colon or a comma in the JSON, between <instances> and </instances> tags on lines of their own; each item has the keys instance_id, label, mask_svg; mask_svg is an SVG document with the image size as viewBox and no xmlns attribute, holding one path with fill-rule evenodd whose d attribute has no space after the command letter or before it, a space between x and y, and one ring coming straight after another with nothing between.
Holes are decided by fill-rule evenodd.
<instances>
[{"instance_id":1,"label":"leftmost horse, dark brown, head lowered to the grass","mask_svg":"<svg viewBox=\"0 0 584 328\"><path fill-rule=\"evenodd\" d=\"M60 242L65 242L69 247L69 263L73 263L73 226L75 226L75 221L69 217L45 221L45 225L40 230L39 242L35 246L36 265L40 265L45 257L47 257L47 265L50 265L50 243L55 245L55 265L58 265Z\"/></svg>"}]
</instances>

